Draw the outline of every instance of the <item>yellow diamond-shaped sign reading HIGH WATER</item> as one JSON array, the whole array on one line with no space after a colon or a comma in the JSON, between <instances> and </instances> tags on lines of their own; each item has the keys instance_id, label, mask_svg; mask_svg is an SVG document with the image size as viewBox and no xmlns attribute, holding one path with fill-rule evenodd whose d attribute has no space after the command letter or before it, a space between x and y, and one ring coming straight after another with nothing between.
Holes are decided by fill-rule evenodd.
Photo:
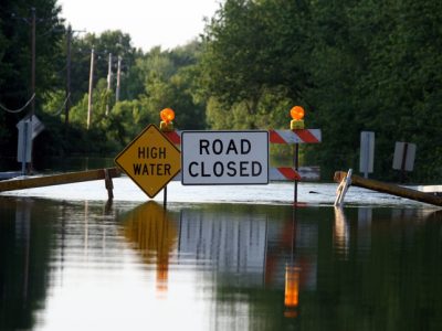
<instances>
[{"instance_id":1,"label":"yellow diamond-shaped sign reading HIGH WATER","mask_svg":"<svg viewBox=\"0 0 442 331\"><path fill-rule=\"evenodd\" d=\"M178 148L149 125L116 158L115 163L149 196L155 197L181 170Z\"/></svg>"}]
</instances>

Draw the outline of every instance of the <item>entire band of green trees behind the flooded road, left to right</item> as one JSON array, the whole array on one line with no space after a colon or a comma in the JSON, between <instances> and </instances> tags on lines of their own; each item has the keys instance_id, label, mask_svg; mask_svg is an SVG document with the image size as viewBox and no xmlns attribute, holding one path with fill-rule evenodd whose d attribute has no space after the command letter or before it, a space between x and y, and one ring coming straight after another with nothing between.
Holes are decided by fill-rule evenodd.
<instances>
[{"instance_id":1,"label":"entire band of green trees behind the flooded road, left to right","mask_svg":"<svg viewBox=\"0 0 442 331\"><path fill-rule=\"evenodd\" d=\"M54 0L33 6L45 19L36 30L35 104L46 125L38 143L50 143L42 147L49 154L115 153L145 126L158 125L166 107L176 110L178 129L280 129L288 128L290 109L302 105L306 126L323 130L323 142L303 147L303 158L320 166L324 179L335 170L358 168L362 130L376 132L376 177L398 179L391 170L394 141L418 145L411 180L442 175L438 1L225 0L208 20L201 41L171 51L135 50L122 31L74 33L67 127L60 9ZM0 103L11 109L30 97L30 25L19 18L30 18L28 2L3 1ZM87 129L92 47L96 58ZM24 115L0 113L2 156L14 154L14 126Z\"/></svg>"}]
</instances>

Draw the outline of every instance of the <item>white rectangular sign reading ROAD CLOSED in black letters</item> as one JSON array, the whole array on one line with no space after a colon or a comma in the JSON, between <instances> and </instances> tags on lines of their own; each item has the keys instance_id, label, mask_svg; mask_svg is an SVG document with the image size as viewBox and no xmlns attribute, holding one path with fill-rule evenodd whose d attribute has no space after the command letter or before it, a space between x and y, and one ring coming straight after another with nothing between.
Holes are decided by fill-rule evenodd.
<instances>
[{"instance_id":1,"label":"white rectangular sign reading ROAD CLOSED in black letters","mask_svg":"<svg viewBox=\"0 0 442 331\"><path fill-rule=\"evenodd\" d=\"M269 183L267 131L182 131L183 185Z\"/></svg>"}]
</instances>

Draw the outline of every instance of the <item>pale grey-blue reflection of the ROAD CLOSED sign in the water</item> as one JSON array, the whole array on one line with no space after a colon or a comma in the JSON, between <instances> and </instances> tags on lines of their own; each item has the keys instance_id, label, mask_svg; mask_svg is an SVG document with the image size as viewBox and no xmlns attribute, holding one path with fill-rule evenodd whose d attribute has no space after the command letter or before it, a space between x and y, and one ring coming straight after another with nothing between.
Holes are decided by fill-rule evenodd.
<instances>
[{"instance_id":1,"label":"pale grey-blue reflection of the ROAD CLOSED sign in the water","mask_svg":"<svg viewBox=\"0 0 442 331\"><path fill-rule=\"evenodd\" d=\"M263 284L267 215L185 209L180 216L180 257L211 266L228 281L235 275L244 286Z\"/></svg>"}]
</instances>

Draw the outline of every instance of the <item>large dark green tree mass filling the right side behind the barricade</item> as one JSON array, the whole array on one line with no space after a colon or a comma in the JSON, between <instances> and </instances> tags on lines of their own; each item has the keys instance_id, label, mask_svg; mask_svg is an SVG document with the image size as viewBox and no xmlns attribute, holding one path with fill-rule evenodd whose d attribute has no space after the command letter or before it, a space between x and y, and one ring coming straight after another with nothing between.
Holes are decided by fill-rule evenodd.
<instances>
[{"instance_id":1,"label":"large dark green tree mass filling the right side behind the barricade","mask_svg":"<svg viewBox=\"0 0 442 331\"><path fill-rule=\"evenodd\" d=\"M323 130L306 160L327 179L358 168L360 131L372 130L377 177L396 178L394 141L408 141L418 145L412 179L440 180L440 13L429 0L227 0L203 40L208 124L286 127L274 110L301 104L307 127Z\"/></svg>"}]
</instances>

